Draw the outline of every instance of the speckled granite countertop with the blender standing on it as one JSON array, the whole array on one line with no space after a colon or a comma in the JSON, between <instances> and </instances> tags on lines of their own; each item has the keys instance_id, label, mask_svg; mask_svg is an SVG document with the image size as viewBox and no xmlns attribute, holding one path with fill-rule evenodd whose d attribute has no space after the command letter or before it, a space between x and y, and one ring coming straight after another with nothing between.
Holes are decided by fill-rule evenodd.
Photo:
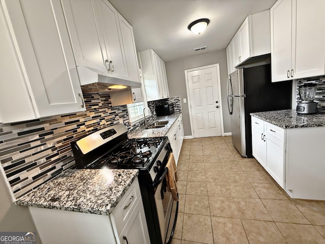
<instances>
[{"instance_id":1,"label":"speckled granite countertop with the blender standing on it","mask_svg":"<svg viewBox=\"0 0 325 244\"><path fill-rule=\"evenodd\" d=\"M295 109L251 113L250 115L267 121L283 129L325 126L325 114L297 114Z\"/></svg>"}]
</instances>

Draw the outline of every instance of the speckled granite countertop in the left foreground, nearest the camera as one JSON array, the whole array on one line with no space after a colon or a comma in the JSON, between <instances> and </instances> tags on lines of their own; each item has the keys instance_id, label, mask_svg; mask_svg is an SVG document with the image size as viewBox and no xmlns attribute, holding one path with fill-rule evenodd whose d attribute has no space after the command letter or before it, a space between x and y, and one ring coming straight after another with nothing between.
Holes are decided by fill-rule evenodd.
<instances>
[{"instance_id":1,"label":"speckled granite countertop in the left foreground, nearest the camera","mask_svg":"<svg viewBox=\"0 0 325 244\"><path fill-rule=\"evenodd\" d=\"M70 169L16 204L109 215L138 173L135 169Z\"/></svg>"}]
</instances>

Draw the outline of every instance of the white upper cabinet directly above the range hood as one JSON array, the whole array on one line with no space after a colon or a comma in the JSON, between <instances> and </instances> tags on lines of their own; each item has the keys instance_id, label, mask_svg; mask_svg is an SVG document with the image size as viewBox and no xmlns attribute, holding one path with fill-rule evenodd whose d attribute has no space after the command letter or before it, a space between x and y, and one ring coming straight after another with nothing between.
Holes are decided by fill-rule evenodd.
<instances>
[{"instance_id":1,"label":"white upper cabinet directly above the range hood","mask_svg":"<svg viewBox=\"0 0 325 244\"><path fill-rule=\"evenodd\" d=\"M77 66L139 82L133 29L116 9L106 0L61 2Z\"/></svg>"}]
</instances>

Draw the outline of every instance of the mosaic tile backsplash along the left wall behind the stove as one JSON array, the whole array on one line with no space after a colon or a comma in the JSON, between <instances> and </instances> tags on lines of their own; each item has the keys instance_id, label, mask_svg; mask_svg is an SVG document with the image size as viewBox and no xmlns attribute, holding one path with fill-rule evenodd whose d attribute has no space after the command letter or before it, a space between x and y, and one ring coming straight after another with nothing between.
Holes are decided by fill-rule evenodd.
<instances>
[{"instance_id":1,"label":"mosaic tile backsplash along the left wall behind the stove","mask_svg":"<svg viewBox=\"0 0 325 244\"><path fill-rule=\"evenodd\" d=\"M126 105L112 107L109 94L84 94L84 100L84 112L0 124L0 162L16 198L75 166L71 141L122 121L129 131L143 125L131 125ZM167 102L178 100L178 108L179 97Z\"/></svg>"}]
</instances>

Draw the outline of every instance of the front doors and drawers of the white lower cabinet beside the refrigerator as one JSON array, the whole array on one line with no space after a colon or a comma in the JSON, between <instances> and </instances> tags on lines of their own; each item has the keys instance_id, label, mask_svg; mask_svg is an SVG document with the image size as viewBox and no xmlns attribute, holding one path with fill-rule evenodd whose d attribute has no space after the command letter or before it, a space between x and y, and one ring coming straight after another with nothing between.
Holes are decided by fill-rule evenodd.
<instances>
[{"instance_id":1,"label":"front doors and drawers of the white lower cabinet beside the refrigerator","mask_svg":"<svg viewBox=\"0 0 325 244\"><path fill-rule=\"evenodd\" d=\"M251 123L253 156L283 188L284 130L255 117Z\"/></svg>"}]
</instances>

